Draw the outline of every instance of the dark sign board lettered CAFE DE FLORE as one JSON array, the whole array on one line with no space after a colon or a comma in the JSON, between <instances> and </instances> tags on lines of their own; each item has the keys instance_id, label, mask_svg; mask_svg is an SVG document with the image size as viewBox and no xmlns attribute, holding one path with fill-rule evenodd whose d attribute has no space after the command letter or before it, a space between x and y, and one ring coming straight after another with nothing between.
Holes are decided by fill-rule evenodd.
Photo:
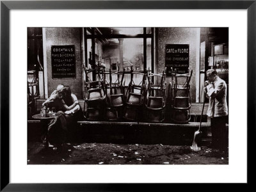
<instances>
[{"instance_id":1,"label":"dark sign board lettered CAFE DE FLORE","mask_svg":"<svg viewBox=\"0 0 256 192\"><path fill-rule=\"evenodd\" d=\"M166 44L165 46L166 77L171 77L172 70L177 74L188 73L189 67L189 45L188 44Z\"/></svg>"}]
</instances>

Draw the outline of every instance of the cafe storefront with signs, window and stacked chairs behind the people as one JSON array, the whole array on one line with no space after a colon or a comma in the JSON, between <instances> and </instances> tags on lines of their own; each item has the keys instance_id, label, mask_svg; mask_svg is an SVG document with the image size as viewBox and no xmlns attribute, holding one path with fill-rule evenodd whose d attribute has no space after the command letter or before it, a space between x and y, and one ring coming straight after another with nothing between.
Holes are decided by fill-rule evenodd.
<instances>
[{"instance_id":1,"label":"cafe storefront with signs, window and stacked chairs behind the people","mask_svg":"<svg viewBox=\"0 0 256 192\"><path fill-rule=\"evenodd\" d=\"M83 108L77 124L100 125L95 134L102 125L194 132L209 68L228 84L228 28L28 28L28 119L65 84ZM207 136L206 110L207 100Z\"/></svg>"}]
</instances>

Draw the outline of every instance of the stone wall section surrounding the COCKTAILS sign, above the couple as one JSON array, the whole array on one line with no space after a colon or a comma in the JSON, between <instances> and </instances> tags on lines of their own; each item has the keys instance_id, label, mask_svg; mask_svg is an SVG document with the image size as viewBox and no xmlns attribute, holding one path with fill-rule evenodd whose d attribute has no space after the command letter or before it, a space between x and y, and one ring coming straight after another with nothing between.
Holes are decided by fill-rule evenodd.
<instances>
[{"instance_id":1,"label":"stone wall section surrounding the COCKTAILS sign, above the couple","mask_svg":"<svg viewBox=\"0 0 256 192\"><path fill-rule=\"evenodd\" d=\"M48 95L56 89L58 84L70 86L72 92L76 94L78 99L82 98L83 84L81 76L81 34L82 28L43 28L44 35L44 65L46 77L45 85ZM75 45L76 49L76 78L74 79L52 79L52 61L51 46L52 45Z\"/></svg>"}]
</instances>

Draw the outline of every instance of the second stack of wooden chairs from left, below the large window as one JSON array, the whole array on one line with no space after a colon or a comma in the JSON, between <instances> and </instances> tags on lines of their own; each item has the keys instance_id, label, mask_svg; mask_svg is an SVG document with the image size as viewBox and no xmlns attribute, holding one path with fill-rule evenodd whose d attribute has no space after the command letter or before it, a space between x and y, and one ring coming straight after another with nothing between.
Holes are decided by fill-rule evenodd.
<instances>
[{"instance_id":1,"label":"second stack of wooden chairs from left, below the large window","mask_svg":"<svg viewBox=\"0 0 256 192\"><path fill-rule=\"evenodd\" d=\"M109 73L105 73L105 76L109 75L109 81L105 77L105 92L106 119L110 121L120 120L123 116L123 109L125 104L123 88L124 72L120 74L118 71L113 73L111 70L109 70ZM121 80L120 76L122 76Z\"/></svg>"}]
</instances>

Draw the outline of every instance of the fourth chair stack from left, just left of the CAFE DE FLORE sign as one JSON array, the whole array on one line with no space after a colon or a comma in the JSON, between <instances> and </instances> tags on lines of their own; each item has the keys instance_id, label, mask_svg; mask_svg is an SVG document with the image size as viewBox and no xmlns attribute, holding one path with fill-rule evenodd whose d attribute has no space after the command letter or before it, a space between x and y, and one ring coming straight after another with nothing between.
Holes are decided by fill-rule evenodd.
<instances>
[{"instance_id":1,"label":"fourth chair stack from left, just left of the CAFE DE FLORE sign","mask_svg":"<svg viewBox=\"0 0 256 192\"><path fill-rule=\"evenodd\" d=\"M165 90L166 81L165 74L152 74L148 70L148 88L147 95L145 97L145 121L146 122L163 122L165 115ZM160 79L161 78L161 79ZM159 81L159 84L154 84Z\"/></svg>"}]
</instances>

